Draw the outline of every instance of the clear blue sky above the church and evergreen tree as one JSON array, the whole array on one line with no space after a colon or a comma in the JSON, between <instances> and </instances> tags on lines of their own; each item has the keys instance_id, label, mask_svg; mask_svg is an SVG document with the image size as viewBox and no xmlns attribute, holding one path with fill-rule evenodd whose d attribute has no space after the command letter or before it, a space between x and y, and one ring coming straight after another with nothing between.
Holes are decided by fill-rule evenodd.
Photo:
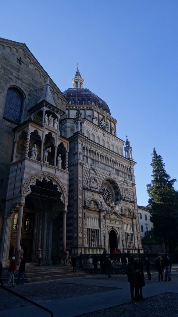
<instances>
[{"instance_id":1,"label":"clear blue sky above the church and evergreen tree","mask_svg":"<svg viewBox=\"0 0 178 317\"><path fill-rule=\"evenodd\" d=\"M138 204L146 205L155 146L177 178L178 1L3 1L1 37L26 43L61 91L76 64L132 146ZM175 184L178 189L178 184Z\"/></svg>"}]
</instances>

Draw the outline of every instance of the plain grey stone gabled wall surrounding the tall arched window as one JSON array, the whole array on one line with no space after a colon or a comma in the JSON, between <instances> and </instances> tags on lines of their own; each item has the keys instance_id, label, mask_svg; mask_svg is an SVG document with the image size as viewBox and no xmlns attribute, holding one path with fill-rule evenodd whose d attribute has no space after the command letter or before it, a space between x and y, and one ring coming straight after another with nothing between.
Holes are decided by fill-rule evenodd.
<instances>
[{"instance_id":1,"label":"plain grey stone gabled wall surrounding the tall arched window","mask_svg":"<svg viewBox=\"0 0 178 317\"><path fill-rule=\"evenodd\" d=\"M23 92L24 105L21 114L21 122L23 122L27 120L27 110L40 99L46 78L47 73L24 44L0 38L0 237L9 168L12 162L13 128L17 126L14 122L3 118L7 89L10 86L16 86ZM64 96L52 80L50 80L50 87L57 107L65 111Z\"/></svg>"}]
</instances>

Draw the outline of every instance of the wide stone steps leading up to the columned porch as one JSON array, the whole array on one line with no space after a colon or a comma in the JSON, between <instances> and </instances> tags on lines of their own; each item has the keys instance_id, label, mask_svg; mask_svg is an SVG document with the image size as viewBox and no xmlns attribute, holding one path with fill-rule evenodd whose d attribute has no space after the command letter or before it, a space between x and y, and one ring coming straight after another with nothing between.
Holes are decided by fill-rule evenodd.
<instances>
[{"instance_id":1,"label":"wide stone steps leading up to the columned porch","mask_svg":"<svg viewBox=\"0 0 178 317\"><path fill-rule=\"evenodd\" d=\"M63 278L72 278L72 277L82 277L86 276L86 273L77 269L73 273L72 266L69 264L65 265L41 265L40 267L37 264L26 265L25 267L25 283L34 283L34 282L46 282L52 280L59 280ZM9 279L9 274L7 270L3 270L2 280L6 284ZM14 274L15 283L18 282L18 268Z\"/></svg>"}]
</instances>

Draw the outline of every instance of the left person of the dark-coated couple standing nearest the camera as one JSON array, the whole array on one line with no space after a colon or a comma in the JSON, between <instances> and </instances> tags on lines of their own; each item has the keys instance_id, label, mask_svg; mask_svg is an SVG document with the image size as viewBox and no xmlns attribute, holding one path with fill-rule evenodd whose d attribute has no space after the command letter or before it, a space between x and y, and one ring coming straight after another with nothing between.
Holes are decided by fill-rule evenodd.
<instances>
[{"instance_id":1,"label":"left person of the dark-coated couple standing nearest the camera","mask_svg":"<svg viewBox=\"0 0 178 317\"><path fill-rule=\"evenodd\" d=\"M128 258L128 264L126 265L126 274L128 278L128 282L130 283L130 293L132 301L138 301L139 300L139 290L138 290L138 283L137 278L135 276L135 273L138 271L134 271L133 268L134 259L133 257ZM135 288L135 296L134 296L134 288Z\"/></svg>"}]
</instances>

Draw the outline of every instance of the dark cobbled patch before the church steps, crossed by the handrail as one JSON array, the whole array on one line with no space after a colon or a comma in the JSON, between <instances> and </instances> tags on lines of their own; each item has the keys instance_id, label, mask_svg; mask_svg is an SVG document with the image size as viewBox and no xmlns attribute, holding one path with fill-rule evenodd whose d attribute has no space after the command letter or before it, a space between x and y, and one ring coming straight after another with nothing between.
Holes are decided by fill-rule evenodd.
<instances>
[{"instance_id":1,"label":"dark cobbled patch before the church steps, crossed by the handrail","mask_svg":"<svg viewBox=\"0 0 178 317\"><path fill-rule=\"evenodd\" d=\"M107 292L116 288L58 283L58 281L52 281L39 284L15 285L15 287L11 287L11 289L33 301L45 305L44 301L46 300L62 300L64 298ZM21 298L18 298L1 288L0 299L0 311L30 305L28 302L23 301Z\"/></svg>"}]
</instances>

